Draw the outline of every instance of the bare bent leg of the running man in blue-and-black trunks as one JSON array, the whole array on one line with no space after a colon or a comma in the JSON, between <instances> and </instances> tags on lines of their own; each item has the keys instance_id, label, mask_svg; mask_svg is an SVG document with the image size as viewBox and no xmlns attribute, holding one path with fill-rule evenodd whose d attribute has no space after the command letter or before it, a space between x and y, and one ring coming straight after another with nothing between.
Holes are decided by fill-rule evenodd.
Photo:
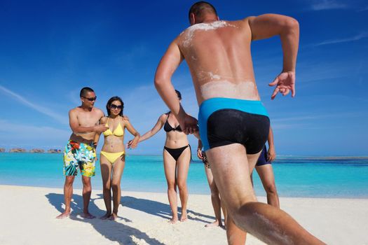
<instances>
[{"instance_id":1,"label":"bare bent leg of the running man in blue-and-black trunks","mask_svg":"<svg viewBox=\"0 0 368 245\"><path fill-rule=\"evenodd\" d=\"M266 244L323 244L284 211L257 202L250 169L259 153L247 155L244 146L231 144L212 148L206 154L229 216L240 229Z\"/></svg>"}]
</instances>

